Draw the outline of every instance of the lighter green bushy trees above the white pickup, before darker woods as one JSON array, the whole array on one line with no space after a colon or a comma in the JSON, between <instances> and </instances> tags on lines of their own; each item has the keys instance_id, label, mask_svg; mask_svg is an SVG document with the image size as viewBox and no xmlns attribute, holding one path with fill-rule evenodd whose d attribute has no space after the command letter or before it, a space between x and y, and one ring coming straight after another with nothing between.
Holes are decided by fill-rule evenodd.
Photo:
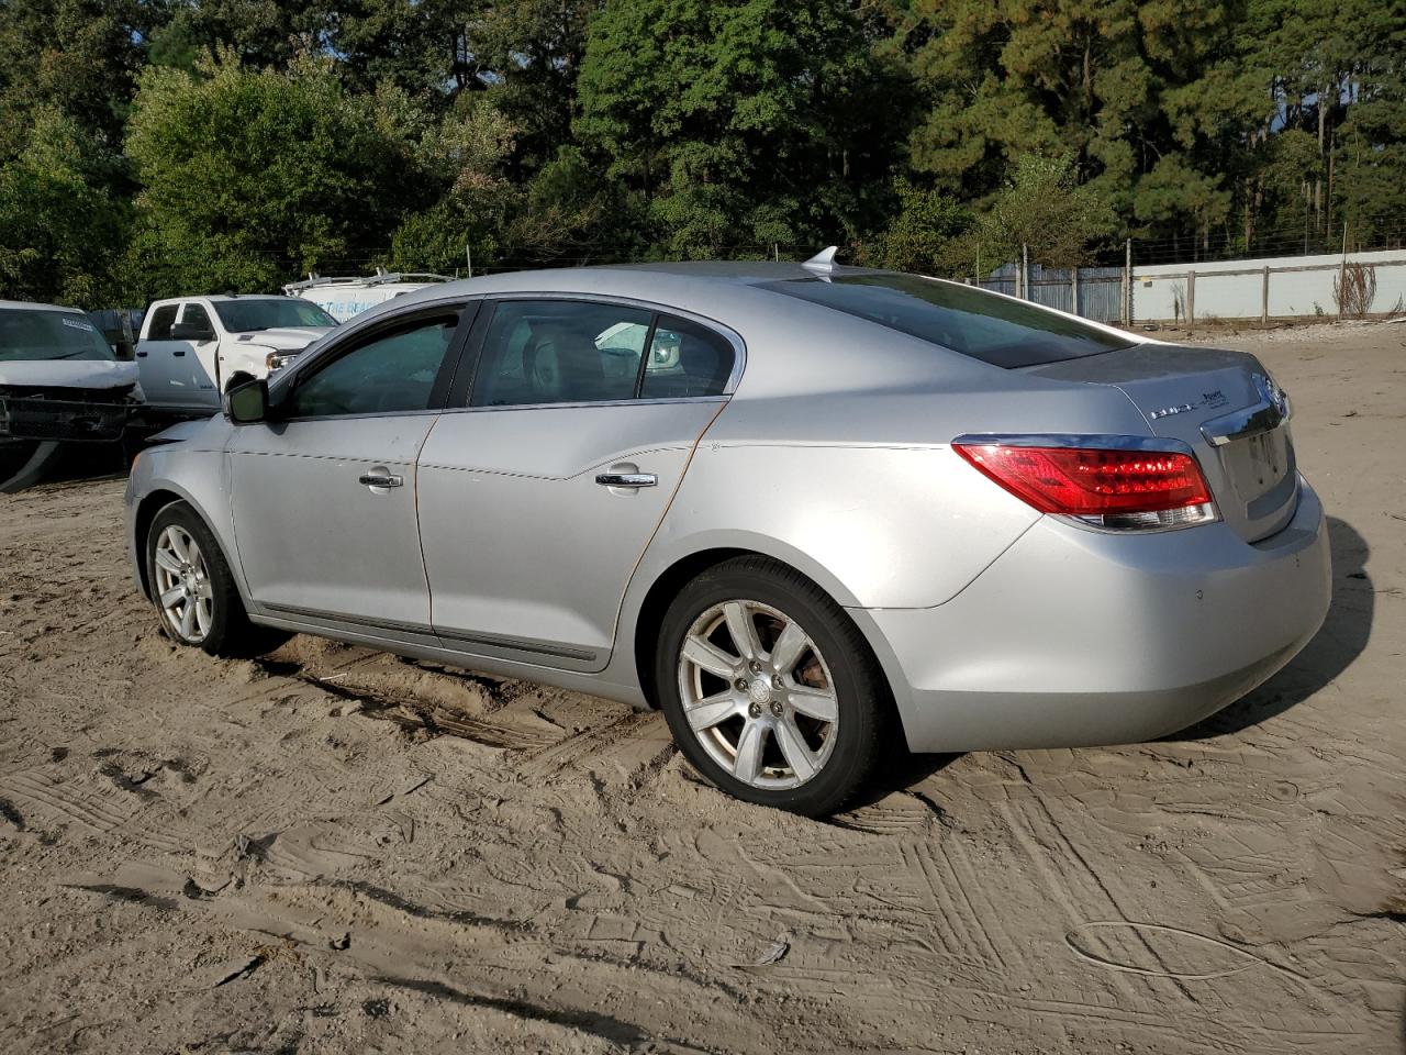
<instances>
[{"instance_id":1,"label":"lighter green bushy trees above the white pickup, before darker woods","mask_svg":"<svg viewBox=\"0 0 1406 1055\"><path fill-rule=\"evenodd\" d=\"M269 288L370 255L408 214L443 218L492 190L508 135L486 108L437 118L394 87L349 93L322 59L149 68L127 143L143 184L128 274L172 291Z\"/></svg>"}]
</instances>

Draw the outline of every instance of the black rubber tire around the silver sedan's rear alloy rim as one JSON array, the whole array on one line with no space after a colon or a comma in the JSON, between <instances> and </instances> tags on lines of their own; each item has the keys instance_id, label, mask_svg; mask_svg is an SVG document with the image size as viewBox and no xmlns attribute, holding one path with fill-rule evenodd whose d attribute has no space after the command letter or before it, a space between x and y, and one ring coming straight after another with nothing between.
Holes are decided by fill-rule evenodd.
<instances>
[{"instance_id":1,"label":"black rubber tire around the silver sedan's rear alloy rim","mask_svg":"<svg viewBox=\"0 0 1406 1055\"><path fill-rule=\"evenodd\" d=\"M821 753L828 750L828 757L824 758L818 771L797 786L762 788L738 779L714 757L718 751L716 744L733 736L728 727L717 726L720 738L709 741L714 747L706 748L703 738L706 734L695 733L686 717L683 688L681 686L681 681L685 679L685 675L681 674L681 653L685 639L695 627L695 622L707 618L707 613L713 612L716 606L740 599L758 602L783 613L786 619L797 623L814 646L814 653L803 654L824 657L821 663L828 675L828 689L838 708L838 722L830 726L828 733L834 737L834 743L828 748L821 748ZM756 616L762 625L752 616L748 616L749 622L754 629L765 630L763 625L772 616L765 612L758 612ZM773 640L772 644L775 646L776 641ZM768 648L765 640L761 641L761 646L763 650ZM724 648L724 651L741 653L735 647ZM814 660L810 670L814 670ZM709 568L679 591L664 616L654 675L664 716L685 758L717 788L747 802L807 817L823 817L839 812L869 784L877 764L891 744L893 703L879 663L859 629L820 587L800 573L766 557L751 556L724 561ZM727 685L725 679L716 675L706 677L714 681L714 688L720 693L730 692L730 689L723 688ZM762 679L765 681L765 678ZM737 688L741 689L741 686ZM780 691L778 691L778 698L783 710L776 712L775 720L780 722L783 715L790 716L790 710ZM741 695L738 699L742 701ZM752 708L755 698L747 698L742 703ZM770 708L772 703L758 706ZM763 722L772 722L765 712L756 713L752 709L748 713ZM728 719L734 724L747 720L747 716L741 713ZM793 720L808 722L804 715L797 715ZM807 733L807 736L817 734ZM773 744L775 750L779 751L782 744L778 734L770 733L769 737L763 743ZM735 750L740 743L741 731L737 733L737 743L733 744L734 758L740 754L740 750ZM818 743L824 744L825 740L821 738ZM723 751L725 750L724 747ZM772 747L765 750L770 751ZM780 779L786 779L786 758L775 753L769 757L776 761L778 771L783 774ZM761 774L765 778L769 772L765 760L762 765ZM796 775L793 771L792 776Z\"/></svg>"}]
</instances>

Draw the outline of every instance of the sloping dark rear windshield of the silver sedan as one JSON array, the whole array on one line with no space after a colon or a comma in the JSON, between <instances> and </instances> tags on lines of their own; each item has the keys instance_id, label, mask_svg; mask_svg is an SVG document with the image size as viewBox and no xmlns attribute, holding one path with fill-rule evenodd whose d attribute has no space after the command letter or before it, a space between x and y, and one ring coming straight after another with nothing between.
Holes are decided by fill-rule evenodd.
<instances>
[{"instance_id":1,"label":"sloping dark rear windshield of the silver sedan","mask_svg":"<svg viewBox=\"0 0 1406 1055\"><path fill-rule=\"evenodd\" d=\"M1015 370L1128 347L1133 342L1033 304L915 274L789 279L762 288Z\"/></svg>"}]
</instances>

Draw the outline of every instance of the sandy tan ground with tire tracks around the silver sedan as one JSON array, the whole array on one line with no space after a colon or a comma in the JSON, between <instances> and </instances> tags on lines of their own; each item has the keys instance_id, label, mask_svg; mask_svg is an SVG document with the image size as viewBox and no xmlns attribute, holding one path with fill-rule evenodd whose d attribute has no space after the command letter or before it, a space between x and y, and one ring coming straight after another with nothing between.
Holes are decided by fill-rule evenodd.
<instances>
[{"instance_id":1,"label":"sandy tan ground with tire tracks around the silver sedan","mask_svg":"<svg viewBox=\"0 0 1406 1055\"><path fill-rule=\"evenodd\" d=\"M0 498L0 1051L1400 1051L1406 326L1219 342L1333 518L1313 644L1167 741L912 760L831 823L657 715L173 648L121 481Z\"/></svg>"}]
</instances>

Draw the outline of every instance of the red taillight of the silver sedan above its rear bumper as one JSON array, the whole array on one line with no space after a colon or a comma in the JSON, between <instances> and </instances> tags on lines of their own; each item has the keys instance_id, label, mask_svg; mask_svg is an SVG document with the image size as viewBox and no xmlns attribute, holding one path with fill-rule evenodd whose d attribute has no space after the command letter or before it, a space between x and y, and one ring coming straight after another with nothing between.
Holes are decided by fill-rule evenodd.
<instances>
[{"instance_id":1,"label":"red taillight of the silver sedan above its rear bumper","mask_svg":"<svg viewBox=\"0 0 1406 1055\"><path fill-rule=\"evenodd\" d=\"M1171 528L1215 519L1201 466L1180 452L979 442L959 442L953 450L1042 513L1078 516L1107 528Z\"/></svg>"}]
</instances>

